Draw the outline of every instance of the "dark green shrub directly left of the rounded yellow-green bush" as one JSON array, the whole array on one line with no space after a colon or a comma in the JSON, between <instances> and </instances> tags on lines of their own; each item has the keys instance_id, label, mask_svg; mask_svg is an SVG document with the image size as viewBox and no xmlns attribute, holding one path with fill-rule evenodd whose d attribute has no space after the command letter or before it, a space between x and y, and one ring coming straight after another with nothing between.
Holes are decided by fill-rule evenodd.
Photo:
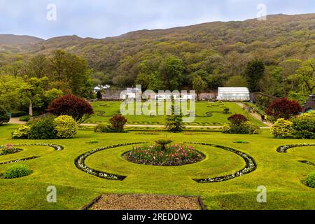
<instances>
[{"instance_id":1,"label":"dark green shrub directly left of the rounded yellow-green bush","mask_svg":"<svg viewBox=\"0 0 315 224\"><path fill-rule=\"evenodd\" d=\"M28 139L56 139L55 117L46 116L27 123L31 128Z\"/></svg>"}]
</instances>

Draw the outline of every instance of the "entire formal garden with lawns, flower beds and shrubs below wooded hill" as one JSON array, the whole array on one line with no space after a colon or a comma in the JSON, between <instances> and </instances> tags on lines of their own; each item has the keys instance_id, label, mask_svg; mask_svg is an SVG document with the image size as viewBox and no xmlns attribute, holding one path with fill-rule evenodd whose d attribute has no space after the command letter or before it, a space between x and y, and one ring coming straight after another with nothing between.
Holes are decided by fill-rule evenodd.
<instances>
[{"instance_id":1,"label":"entire formal garden with lawns, flower beds and shrubs below wooded hill","mask_svg":"<svg viewBox=\"0 0 315 224\"><path fill-rule=\"evenodd\" d=\"M209 117L223 127L189 130L183 114L172 114L164 129L137 130L109 110L106 123L80 126L97 109L71 94L24 125L6 124L4 114L0 209L80 209L107 194L195 195L207 209L315 209L314 111L300 115L287 99L273 102L269 130L235 103L197 104L228 106ZM57 189L56 203L46 201L48 186ZM267 203L257 201L259 186Z\"/></svg>"}]
</instances>

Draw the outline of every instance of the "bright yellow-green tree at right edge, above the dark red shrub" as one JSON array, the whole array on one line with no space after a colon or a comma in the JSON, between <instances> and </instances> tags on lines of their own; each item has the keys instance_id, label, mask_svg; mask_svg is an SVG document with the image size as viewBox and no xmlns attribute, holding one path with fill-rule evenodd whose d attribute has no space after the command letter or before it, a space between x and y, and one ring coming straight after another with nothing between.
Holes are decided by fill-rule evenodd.
<instances>
[{"instance_id":1,"label":"bright yellow-green tree at right edge, above the dark red shrub","mask_svg":"<svg viewBox=\"0 0 315 224\"><path fill-rule=\"evenodd\" d=\"M311 58L303 62L300 68L297 69L297 73L295 76L302 80L309 94L314 93L313 91L315 88L315 59Z\"/></svg>"}]
</instances>

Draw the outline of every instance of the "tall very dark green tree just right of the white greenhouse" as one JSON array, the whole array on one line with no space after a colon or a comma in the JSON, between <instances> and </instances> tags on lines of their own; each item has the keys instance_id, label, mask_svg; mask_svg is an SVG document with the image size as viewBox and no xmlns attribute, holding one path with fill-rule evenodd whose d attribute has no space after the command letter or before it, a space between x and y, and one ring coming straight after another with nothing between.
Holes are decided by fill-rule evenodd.
<instances>
[{"instance_id":1,"label":"tall very dark green tree just right of the white greenhouse","mask_svg":"<svg viewBox=\"0 0 315 224\"><path fill-rule=\"evenodd\" d=\"M248 88L251 92L259 92L259 82L263 78L265 65L260 60L248 62L245 70L245 76L248 82Z\"/></svg>"}]
</instances>

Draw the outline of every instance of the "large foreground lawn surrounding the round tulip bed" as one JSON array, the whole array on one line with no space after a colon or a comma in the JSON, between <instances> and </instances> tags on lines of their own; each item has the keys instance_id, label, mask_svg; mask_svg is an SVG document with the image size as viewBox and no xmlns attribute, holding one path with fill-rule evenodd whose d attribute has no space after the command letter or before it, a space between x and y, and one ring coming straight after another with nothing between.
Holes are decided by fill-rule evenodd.
<instances>
[{"instance_id":1,"label":"large foreground lawn surrounding the round tulip bed","mask_svg":"<svg viewBox=\"0 0 315 224\"><path fill-rule=\"evenodd\" d=\"M40 156L18 162L34 172L19 179L0 179L0 209L80 209L102 193L139 193L161 195L201 195L209 209L315 209L314 188L302 184L315 167L297 162L315 162L315 147L292 148L288 153L277 153L284 144L314 143L314 140L273 139L269 130L260 135L221 134L220 132L191 132L168 134L174 142L195 141L230 146L251 155L258 167L255 172L221 183L197 183L193 178L207 178L231 174L244 161L237 155L218 148L195 146L207 158L194 165L182 167L151 167L125 161L121 155L131 146L112 148L95 153L86 163L94 169L127 176L124 181L109 181L85 174L74 165L78 155L94 148L137 141L165 138L143 135L139 132L124 134L97 134L79 130L75 139L13 140L10 138L17 125L0 126L0 144L50 143L64 146L53 151L45 146L21 146L23 151L0 156L0 162ZM141 132L140 132L141 133ZM235 143L239 139L248 144ZM90 141L95 142L89 144ZM96 142L97 141L97 142ZM0 165L0 173L10 165ZM46 202L46 188L56 186L57 203ZM256 201L258 186L266 186L267 203Z\"/></svg>"}]
</instances>

